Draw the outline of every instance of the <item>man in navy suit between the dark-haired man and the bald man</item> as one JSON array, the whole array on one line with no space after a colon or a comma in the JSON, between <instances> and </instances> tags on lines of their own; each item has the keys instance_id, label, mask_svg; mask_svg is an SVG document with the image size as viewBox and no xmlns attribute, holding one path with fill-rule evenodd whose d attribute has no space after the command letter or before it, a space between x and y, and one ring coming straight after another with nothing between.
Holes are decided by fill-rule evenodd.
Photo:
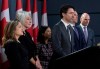
<instances>
[{"instance_id":1,"label":"man in navy suit between the dark-haired man and the bald man","mask_svg":"<svg viewBox=\"0 0 100 69\"><path fill-rule=\"evenodd\" d=\"M84 36L80 33L80 29L77 28L76 23L78 23L78 13L74 12L72 22L70 23L74 31L74 50L78 51L86 46Z\"/></svg>"}]
</instances>

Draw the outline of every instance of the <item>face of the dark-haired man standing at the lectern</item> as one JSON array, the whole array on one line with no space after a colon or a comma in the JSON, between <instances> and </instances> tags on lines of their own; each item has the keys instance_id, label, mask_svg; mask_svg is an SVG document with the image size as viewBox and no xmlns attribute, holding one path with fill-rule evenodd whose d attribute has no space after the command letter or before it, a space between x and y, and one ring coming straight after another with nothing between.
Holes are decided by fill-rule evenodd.
<instances>
[{"instance_id":1,"label":"face of the dark-haired man standing at the lectern","mask_svg":"<svg viewBox=\"0 0 100 69\"><path fill-rule=\"evenodd\" d=\"M74 15L74 9L73 8L69 8L68 11L66 11L66 13L63 13L63 18L67 21L67 22L72 22L72 18Z\"/></svg>"}]
</instances>

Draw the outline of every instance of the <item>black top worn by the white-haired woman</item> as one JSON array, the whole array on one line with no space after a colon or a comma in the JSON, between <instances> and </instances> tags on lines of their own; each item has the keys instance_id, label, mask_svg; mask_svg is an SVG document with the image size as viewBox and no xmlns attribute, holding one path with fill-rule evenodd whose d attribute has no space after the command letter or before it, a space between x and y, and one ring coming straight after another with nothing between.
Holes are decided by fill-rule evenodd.
<instances>
[{"instance_id":1,"label":"black top worn by the white-haired woman","mask_svg":"<svg viewBox=\"0 0 100 69\"><path fill-rule=\"evenodd\" d=\"M33 57L36 60L37 48L30 34L27 31L25 31L25 34L19 38L19 41L28 50L29 59ZM35 66L31 62L29 62L29 67L30 69L35 68Z\"/></svg>"}]
</instances>

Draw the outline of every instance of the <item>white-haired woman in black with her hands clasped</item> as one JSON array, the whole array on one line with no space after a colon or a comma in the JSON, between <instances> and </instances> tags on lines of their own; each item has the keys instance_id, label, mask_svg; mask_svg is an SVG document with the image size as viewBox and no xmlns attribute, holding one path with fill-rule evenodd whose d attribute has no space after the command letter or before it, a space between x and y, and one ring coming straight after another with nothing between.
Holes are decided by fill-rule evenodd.
<instances>
[{"instance_id":1,"label":"white-haired woman in black with her hands clasped","mask_svg":"<svg viewBox=\"0 0 100 69\"><path fill-rule=\"evenodd\" d=\"M16 13L16 19L18 19L23 25L24 35L22 35L19 38L19 41L26 47L26 49L29 52L30 69L35 69L35 68L41 69L42 67L37 57L36 45L33 42L31 35L26 31L28 28L32 26L31 14L26 11L20 11Z\"/></svg>"}]
</instances>

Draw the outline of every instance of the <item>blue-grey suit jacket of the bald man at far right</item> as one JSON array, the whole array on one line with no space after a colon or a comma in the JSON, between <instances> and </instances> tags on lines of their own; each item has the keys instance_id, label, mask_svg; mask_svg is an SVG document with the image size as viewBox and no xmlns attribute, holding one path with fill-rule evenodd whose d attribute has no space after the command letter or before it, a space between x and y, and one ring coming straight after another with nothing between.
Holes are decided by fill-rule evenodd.
<instances>
[{"instance_id":1,"label":"blue-grey suit jacket of the bald man at far right","mask_svg":"<svg viewBox=\"0 0 100 69\"><path fill-rule=\"evenodd\" d=\"M85 41L85 36L84 36L83 30L82 30L82 27L80 25L78 25L77 27L80 30L80 33L82 34L81 36L84 37L84 41ZM95 46L94 31L92 29L90 29L89 27L87 27L87 30L88 30L88 40L87 40L87 42L85 41L86 47L87 46Z\"/></svg>"}]
</instances>

